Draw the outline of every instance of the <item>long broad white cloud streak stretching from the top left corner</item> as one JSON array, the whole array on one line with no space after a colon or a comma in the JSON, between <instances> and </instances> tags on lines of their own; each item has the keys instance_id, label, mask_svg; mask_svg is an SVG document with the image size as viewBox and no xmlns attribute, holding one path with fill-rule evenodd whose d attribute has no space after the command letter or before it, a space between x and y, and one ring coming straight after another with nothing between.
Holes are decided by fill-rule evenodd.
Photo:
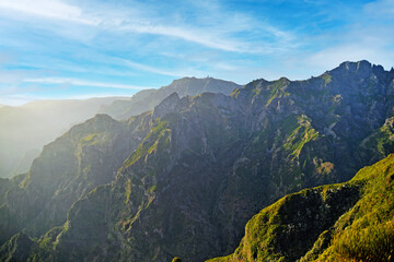
<instances>
[{"instance_id":1,"label":"long broad white cloud streak stretching from the top left corner","mask_svg":"<svg viewBox=\"0 0 394 262\"><path fill-rule=\"evenodd\" d=\"M100 5L97 7L100 8ZM231 36L243 31L258 29L260 31L259 34L269 35L274 37L275 41L292 38L288 32L276 28L267 23L262 24L250 16L236 13L212 13L210 17L207 17L211 20L210 23L202 25L202 27L197 27L184 22L177 25L169 24L167 21L171 21L172 17L152 19L154 14L141 16L139 13L147 13L144 11L139 12L141 10L126 8L120 12L116 9L104 8L105 10L92 11L89 8L83 9L82 7L60 0L36 0L34 4L28 0L0 0L0 9L9 12L24 13L49 20L69 21L95 26L104 31L174 37L208 48L231 52L268 53L280 50L274 43L273 45L267 43L251 45L240 37ZM218 15L219 17L215 17ZM219 20L221 21L219 22Z\"/></svg>"}]
</instances>

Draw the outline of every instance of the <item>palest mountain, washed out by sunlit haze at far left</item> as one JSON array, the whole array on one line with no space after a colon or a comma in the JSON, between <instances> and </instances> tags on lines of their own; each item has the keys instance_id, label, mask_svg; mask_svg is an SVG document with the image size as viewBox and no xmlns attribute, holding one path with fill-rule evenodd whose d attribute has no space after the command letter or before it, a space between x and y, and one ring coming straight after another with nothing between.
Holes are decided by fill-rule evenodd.
<instances>
[{"instance_id":1,"label":"palest mountain, washed out by sunlit haze at far left","mask_svg":"<svg viewBox=\"0 0 394 262\"><path fill-rule=\"evenodd\" d=\"M28 170L42 147L119 97L37 100L0 108L0 177Z\"/></svg>"}]
</instances>

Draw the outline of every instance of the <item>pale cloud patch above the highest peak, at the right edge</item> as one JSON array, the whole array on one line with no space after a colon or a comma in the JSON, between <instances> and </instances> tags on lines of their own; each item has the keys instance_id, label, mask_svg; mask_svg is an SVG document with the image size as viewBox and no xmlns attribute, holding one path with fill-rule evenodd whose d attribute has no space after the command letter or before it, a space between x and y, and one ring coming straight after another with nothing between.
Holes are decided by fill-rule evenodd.
<instances>
[{"instance_id":1,"label":"pale cloud patch above the highest peak, at the right edge","mask_svg":"<svg viewBox=\"0 0 394 262\"><path fill-rule=\"evenodd\" d=\"M394 66L394 2L380 0L368 3L355 14L352 23L340 32L329 32L322 39L335 39L333 45L314 51L304 61L323 70L337 67L345 60L367 59L390 69Z\"/></svg>"}]
</instances>

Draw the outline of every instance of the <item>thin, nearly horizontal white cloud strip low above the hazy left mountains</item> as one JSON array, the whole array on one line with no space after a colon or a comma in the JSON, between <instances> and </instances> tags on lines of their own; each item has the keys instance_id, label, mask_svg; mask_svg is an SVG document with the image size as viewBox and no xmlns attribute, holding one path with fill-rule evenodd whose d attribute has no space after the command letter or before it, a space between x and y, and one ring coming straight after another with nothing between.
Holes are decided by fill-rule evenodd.
<instances>
[{"instance_id":1,"label":"thin, nearly horizontal white cloud strip low above the hazy left mountains","mask_svg":"<svg viewBox=\"0 0 394 262\"><path fill-rule=\"evenodd\" d=\"M119 90L149 90L149 88L152 88L152 87L148 87L148 86L94 82L94 81L84 81L84 80L66 79L66 78L25 79L24 82L42 83L42 84L66 84L66 85L69 84L69 85L77 85L77 86L93 86L93 87L119 88Z\"/></svg>"}]
</instances>

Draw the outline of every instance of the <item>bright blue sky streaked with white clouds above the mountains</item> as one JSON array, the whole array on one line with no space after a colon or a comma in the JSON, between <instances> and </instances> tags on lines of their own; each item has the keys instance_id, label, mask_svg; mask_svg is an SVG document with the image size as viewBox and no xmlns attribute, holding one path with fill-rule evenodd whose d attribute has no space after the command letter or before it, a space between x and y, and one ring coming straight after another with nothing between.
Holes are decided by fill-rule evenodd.
<instances>
[{"instance_id":1,"label":"bright blue sky streaked with white clouds above the mountains","mask_svg":"<svg viewBox=\"0 0 394 262\"><path fill-rule=\"evenodd\" d=\"M0 104L394 66L394 0L0 0Z\"/></svg>"}]
</instances>

